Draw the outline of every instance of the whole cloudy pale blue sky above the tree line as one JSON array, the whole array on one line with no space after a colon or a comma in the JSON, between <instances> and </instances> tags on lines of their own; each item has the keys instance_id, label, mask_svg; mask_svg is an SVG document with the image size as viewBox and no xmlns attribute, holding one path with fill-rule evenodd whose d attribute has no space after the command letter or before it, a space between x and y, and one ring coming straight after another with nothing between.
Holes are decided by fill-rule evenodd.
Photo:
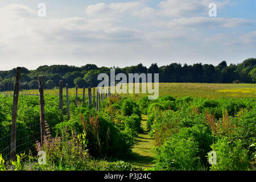
<instances>
[{"instance_id":1,"label":"whole cloudy pale blue sky above the tree line","mask_svg":"<svg viewBox=\"0 0 256 182\"><path fill-rule=\"evenodd\" d=\"M210 3L217 16L209 16ZM0 70L256 57L256 0L1 0L0 23Z\"/></svg>"}]
</instances>

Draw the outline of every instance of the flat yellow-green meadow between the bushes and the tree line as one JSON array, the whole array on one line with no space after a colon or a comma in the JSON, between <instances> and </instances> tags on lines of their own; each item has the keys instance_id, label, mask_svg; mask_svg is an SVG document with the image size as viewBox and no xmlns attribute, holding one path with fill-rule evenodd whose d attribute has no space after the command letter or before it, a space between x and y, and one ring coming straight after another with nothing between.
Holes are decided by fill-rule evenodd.
<instances>
[{"instance_id":1,"label":"flat yellow-green meadow between the bushes and the tree line","mask_svg":"<svg viewBox=\"0 0 256 182\"><path fill-rule=\"evenodd\" d=\"M92 90L93 91L93 90ZM63 94L66 90L63 88ZM69 95L75 96L75 88L69 89ZM36 94L38 90L22 90L22 94ZM59 94L58 89L44 90L45 94ZM10 92L9 92L10 94ZM86 96L88 90L85 92ZM204 83L160 83L159 96L171 95L175 97L256 97L256 84L204 84ZM82 96L82 89L79 89L79 96ZM121 94L121 96L131 97L135 100L148 94Z\"/></svg>"}]
</instances>

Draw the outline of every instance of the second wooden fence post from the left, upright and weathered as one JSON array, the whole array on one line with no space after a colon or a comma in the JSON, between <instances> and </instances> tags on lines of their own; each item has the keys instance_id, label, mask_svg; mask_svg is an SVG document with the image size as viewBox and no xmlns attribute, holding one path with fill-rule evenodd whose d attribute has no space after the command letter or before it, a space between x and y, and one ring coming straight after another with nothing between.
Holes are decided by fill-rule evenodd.
<instances>
[{"instance_id":1,"label":"second wooden fence post from the left, upright and weathered","mask_svg":"<svg viewBox=\"0 0 256 182\"><path fill-rule=\"evenodd\" d=\"M46 135L46 129L44 126L44 87L43 76L39 76L39 102L40 102L40 126L41 126L41 146L43 146L44 135Z\"/></svg>"}]
</instances>

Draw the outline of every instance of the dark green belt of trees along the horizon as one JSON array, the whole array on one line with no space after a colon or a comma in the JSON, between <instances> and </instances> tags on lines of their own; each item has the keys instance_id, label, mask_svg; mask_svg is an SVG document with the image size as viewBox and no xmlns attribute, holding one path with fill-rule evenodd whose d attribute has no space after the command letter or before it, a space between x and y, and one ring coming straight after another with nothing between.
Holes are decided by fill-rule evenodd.
<instances>
[{"instance_id":1,"label":"dark green belt of trees along the horizon","mask_svg":"<svg viewBox=\"0 0 256 182\"><path fill-rule=\"evenodd\" d=\"M115 68L115 67L114 67ZM12 89L16 69L0 71L0 90ZM100 73L110 75L110 68L97 67L94 64L86 64L82 67L68 65L43 65L36 70L22 68L21 85L26 89L33 89L38 84L38 76L44 76L45 85L48 88L59 86L59 80L69 84L70 88L78 85L97 86L97 76ZM115 74L125 73L159 73L159 82L205 82L205 83L255 83L256 82L256 58L246 59L240 64L227 65L222 61L217 66L212 64L177 64L158 67L156 63L149 68L142 64L136 66L115 68ZM7 86L8 85L8 86Z\"/></svg>"}]
</instances>

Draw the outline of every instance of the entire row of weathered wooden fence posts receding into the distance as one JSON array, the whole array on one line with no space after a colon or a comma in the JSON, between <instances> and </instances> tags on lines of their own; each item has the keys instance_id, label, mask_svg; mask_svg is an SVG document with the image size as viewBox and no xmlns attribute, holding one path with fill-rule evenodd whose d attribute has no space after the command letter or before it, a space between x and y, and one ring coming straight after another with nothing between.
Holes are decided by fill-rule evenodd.
<instances>
[{"instance_id":1,"label":"entire row of weathered wooden fence posts receding into the distance","mask_svg":"<svg viewBox=\"0 0 256 182\"><path fill-rule=\"evenodd\" d=\"M11 145L10 145L10 159L16 159L16 119L18 110L18 100L19 100L19 85L21 78L21 68L16 69L16 76L14 81L14 97L13 97L13 108L12 108L12 118L11 118ZM44 111L44 88L43 88L43 76L39 76L39 103L40 103L40 131L41 131L41 146L43 146L43 139L46 135L45 129L45 111ZM110 97L109 88L106 90L106 96ZM78 106L77 101L78 86L76 86L76 98L75 105ZM67 120L70 119L70 107L69 107L69 94L68 94L68 84L66 84L66 97L67 97ZM97 100L96 100L97 97ZM101 102L104 101L104 91L103 89L97 88L97 96L95 96L95 88L93 88L93 104L92 104L92 88L88 88L88 105L96 107L97 111L101 110ZM85 87L83 88L82 94L82 104L85 104ZM59 109L63 112L63 80L59 82ZM63 118L62 118L63 119Z\"/></svg>"}]
</instances>

